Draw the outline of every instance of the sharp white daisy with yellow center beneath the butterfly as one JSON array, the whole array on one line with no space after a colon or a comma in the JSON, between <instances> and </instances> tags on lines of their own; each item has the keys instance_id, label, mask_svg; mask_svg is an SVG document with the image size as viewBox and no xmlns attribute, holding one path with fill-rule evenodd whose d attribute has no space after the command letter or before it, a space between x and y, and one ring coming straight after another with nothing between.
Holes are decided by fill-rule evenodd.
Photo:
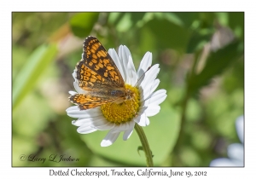
<instances>
[{"instance_id":1,"label":"sharp white daisy with yellow center beneath the butterfly","mask_svg":"<svg viewBox=\"0 0 256 179\"><path fill-rule=\"evenodd\" d=\"M127 140L136 123L140 126L147 126L149 124L148 117L159 113L160 103L166 99L166 90L154 92L160 84L160 80L156 78L160 68L159 64L151 66L152 53L147 52L143 56L137 72L131 52L126 46L119 46L119 55L114 49L109 49L108 54L119 68L125 81L125 88L131 90L135 94L134 97L126 100L123 105L109 102L109 104L87 110L80 110L78 106L67 108L68 116L78 118L73 120L72 124L79 127L77 131L80 134L89 134L96 130L109 130L108 135L102 140L102 147L112 145L121 132L124 132L123 140ZM79 88L79 82L75 76L76 73L73 72L74 88L78 93L84 94L84 90ZM69 93L76 94L74 91Z\"/></svg>"}]
</instances>

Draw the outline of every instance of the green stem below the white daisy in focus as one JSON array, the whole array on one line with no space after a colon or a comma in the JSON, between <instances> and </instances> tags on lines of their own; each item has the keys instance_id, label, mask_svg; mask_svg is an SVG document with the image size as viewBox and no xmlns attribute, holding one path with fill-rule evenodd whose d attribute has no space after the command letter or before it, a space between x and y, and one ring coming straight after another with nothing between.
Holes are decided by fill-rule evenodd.
<instances>
[{"instance_id":1,"label":"green stem below the white daisy in focus","mask_svg":"<svg viewBox=\"0 0 256 179\"><path fill-rule=\"evenodd\" d=\"M143 131L143 128L139 126L137 123L135 124L135 130L137 131L137 135L139 136L142 144L143 144L143 151L146 155L147 159L147 166L154 166L153 159L152 159L152 153L148 145L147 137L145 136L145 133Z\"/></svg>"}]
</instances>

